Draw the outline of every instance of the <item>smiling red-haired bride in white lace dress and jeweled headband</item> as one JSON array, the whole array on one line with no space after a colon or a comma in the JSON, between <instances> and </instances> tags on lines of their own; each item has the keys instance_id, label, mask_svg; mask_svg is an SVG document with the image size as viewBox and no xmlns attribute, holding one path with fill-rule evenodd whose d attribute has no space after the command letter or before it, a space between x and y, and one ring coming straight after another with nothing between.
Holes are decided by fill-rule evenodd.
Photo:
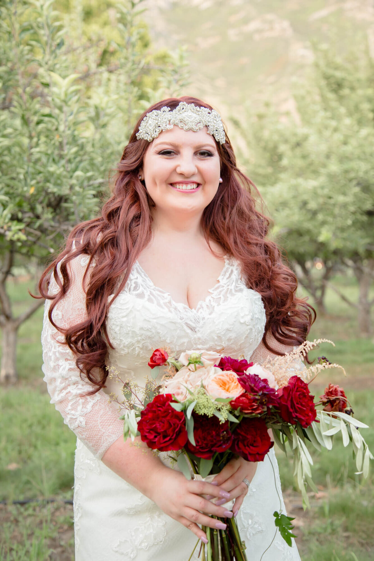
<instances>
[{"instance_id":1,"label":"smiling red-haired bride in white lace dress and jeweled headband","mask_svg":"<svg viewBox=\"0 0 374 561\"><path fill-rule=\"evenodd\" d=\"M257 464L232 459L213 484L187 481L166 454L124 443L109 399L121 388L108 368L142 385L158 347L261 362L304 341L310 307L253 190L219 114L163 100L139 119L101 215L73 228L41 277L44 379L77 435L76 561L187 561L206 542L201 526L225 527L210 514L237 516L248 560L300 559L274 525L274 449Z\"/></svg>"}]
</instances>

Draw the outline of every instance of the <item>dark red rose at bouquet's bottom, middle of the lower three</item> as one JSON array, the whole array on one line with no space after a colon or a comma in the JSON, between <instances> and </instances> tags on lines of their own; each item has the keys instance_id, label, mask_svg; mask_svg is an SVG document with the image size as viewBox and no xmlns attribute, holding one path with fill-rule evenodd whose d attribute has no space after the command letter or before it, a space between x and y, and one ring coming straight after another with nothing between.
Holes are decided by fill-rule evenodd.
<instances>
[{"instance_id":1,"label":"dark red rose at bouquet's bottom, middle of the lower three","mask_svg":"<svg viewBox=\"0 0 374 561\"><path fill-rule=\"evenodd\" d=\"M223 423L215 416L193 414L193 437L195 446L188 440L186 450L198 458L211 459L215 452L225 452L230 448L233 435L230 433L228 421Z\"/></svg>"}]
</instances>

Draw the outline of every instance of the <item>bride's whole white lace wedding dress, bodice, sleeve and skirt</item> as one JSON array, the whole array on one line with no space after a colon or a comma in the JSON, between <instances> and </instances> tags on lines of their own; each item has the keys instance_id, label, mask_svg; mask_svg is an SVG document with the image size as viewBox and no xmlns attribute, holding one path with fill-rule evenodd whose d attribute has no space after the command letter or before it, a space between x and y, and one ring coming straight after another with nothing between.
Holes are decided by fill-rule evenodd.
<instances>
[{"instance_id":1,"label":"bride's whole white lace wedding dress, bodice, sleeve and skirt","mask_svg":"<svg viewBox=\"0 0 374 561\"><path fill-rule=\"evenodd\" d=\"M87 256L70 263L73 283L54 309L57 325L76 324L85 316L82 282L87 263ZM53 278L49 291L57 292ZM108 399L111 392L118 394L119 385L108 379L107 388L86 396L92 386L80 377L71 351L61 344L61 333L50 324L49 304L45 305L42 334L44 380L51 403L77 435L76 561L187 561L196 536L100 461L122 435L118 405ZM109 308L107 329L114 349L108 351L107 364L116 367L123 379L142 384L149 374L147 362L153 349L165 344L177 353L224 347L224 355L244 355L260 362L265 356L260 343L264 326L261 296L246 287L233 257L225 257L218 283L196 309L174 302L169 293L154 286L136 261L126 286ZM300 560L295 544L290 548L275 530L273 512L280 509L285 512L278 464L271 449L264 462L258 463L237 516L248 561Z\"/></svg>"}]
</instances>

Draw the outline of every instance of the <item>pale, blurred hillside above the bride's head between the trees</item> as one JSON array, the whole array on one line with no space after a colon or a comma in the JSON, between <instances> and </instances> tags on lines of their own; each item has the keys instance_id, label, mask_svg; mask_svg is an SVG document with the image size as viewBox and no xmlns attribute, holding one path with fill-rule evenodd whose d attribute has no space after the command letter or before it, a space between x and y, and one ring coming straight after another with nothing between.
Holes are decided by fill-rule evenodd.
<instances>
[{"instance_id":1,"label":"pale, blurred hillside above the bride's head between the trees","mask_svg":"<svg viewBox=\"0 0 374 561\"><path fill-rule=\"evenodd\" d=\"M187 45L188 93L237 115L264 94L288 107L290 81L313 60L311 42L344 50L365 36L374 55L372 0L147 0L158 47Z\"/></svg>"}]
</instances>

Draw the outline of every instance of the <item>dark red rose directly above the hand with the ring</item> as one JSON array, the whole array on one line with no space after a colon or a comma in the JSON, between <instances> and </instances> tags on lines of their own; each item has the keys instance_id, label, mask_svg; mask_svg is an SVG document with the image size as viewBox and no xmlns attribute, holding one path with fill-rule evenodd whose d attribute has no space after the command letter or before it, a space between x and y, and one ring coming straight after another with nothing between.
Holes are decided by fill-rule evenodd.
<instances>
[{"instance_id":1,"label":"dark red rose directly above the hand with the ring","mask_svg":"<svg viewBox=\"0 0 374 561\"><path fill-rule=\"evenodd\" d=\"M263 419L244 417L234 430L231 450L247 462L262 462L273 445Z\"/></svg>"}]
</instances>

